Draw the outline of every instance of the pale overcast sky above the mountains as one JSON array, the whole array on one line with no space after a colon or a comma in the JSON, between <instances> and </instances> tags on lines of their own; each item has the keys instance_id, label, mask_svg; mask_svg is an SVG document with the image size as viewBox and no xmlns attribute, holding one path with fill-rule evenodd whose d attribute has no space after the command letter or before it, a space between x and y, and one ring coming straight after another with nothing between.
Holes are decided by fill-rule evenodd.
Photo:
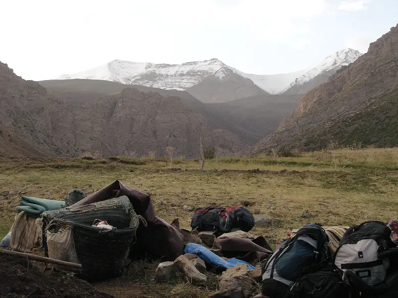
<instances>
[{"instance_id":1,"label":"pale overcast sky above the mountains","mask_svg":"<svg viewBox=\"0 0 398 298\"><path fill-rule=\"evenodd\" d=\"M0 61L28 80L115 59L292 72L364 53L398 22L398 0L3 0L0 11Z\"/></svg>"}]
</instances>

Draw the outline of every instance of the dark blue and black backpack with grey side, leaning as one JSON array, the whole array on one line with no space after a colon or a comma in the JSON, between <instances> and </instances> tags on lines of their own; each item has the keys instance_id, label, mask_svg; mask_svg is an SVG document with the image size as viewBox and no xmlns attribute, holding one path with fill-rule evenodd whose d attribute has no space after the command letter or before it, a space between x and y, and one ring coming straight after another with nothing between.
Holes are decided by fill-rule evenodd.
<instances>
[{"instance_id":1,"label":"dark blue and black backpack with grey side, leaning","mask_svg":"<svg viewBox=\"0 0 398 298\"><path fill-rule=\"evenodd\" d=\"M263 268L262 294L291 296L290 288L304 275L324 267L327 255L327 235L323 228L316 223L304 226L268 259Z\"/></svg>"}]
</instances>

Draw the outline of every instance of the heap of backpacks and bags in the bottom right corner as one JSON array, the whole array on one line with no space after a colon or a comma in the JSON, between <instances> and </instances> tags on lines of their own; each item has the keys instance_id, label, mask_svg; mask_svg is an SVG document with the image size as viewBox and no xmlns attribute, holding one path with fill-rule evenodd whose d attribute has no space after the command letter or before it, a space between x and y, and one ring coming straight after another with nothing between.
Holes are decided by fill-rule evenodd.
<instances>
[{"instance_id":1,"label":"heap of backpacks and bags in the bottom right corner","mask_svg":"<svg viewBox=\"0 0 398 298\"><path fill-rule=\"evenodd\" d=\"M285 240L262 270L262 294L271 297L398 297L398 221L350 227L337 250L318 224Z\"/></svg>"}]
</instances>

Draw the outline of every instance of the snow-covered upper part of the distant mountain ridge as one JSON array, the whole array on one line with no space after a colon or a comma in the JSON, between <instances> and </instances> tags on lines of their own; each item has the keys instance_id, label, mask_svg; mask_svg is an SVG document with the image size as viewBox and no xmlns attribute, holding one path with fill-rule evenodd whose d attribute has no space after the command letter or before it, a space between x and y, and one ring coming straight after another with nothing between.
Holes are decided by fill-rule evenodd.
<instances>
[{"instance_id":1,"label":"snow-covered upper part of the distant mountain ridge","mask_svg":"<svg viewBox=\"0 0 398 298\"><path fill-rule=\"evenodd\" d=\"M114 60L86 71L64 74L57 79L106 80L161 89L186 90L211 75L214 75L219 80L226 80L229 78L227 74L232 71L243 78L251 80L262 90L271 94L277 94L295 85L302 85L314 79L319 74L330 70L337 70L343 65L348 65L361 55L358 51L347 48L326 57L315 67L291 73L266 75L249 74L239 71L217 58L182 64L157 64Z\"/></svg>"}]
</instances>

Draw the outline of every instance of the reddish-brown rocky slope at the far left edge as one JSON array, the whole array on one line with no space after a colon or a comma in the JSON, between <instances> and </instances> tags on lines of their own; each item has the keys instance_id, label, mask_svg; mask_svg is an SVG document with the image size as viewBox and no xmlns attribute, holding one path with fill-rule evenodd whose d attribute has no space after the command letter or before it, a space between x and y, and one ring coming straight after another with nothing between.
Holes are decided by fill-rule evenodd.
<instances>
[{"instance_id":1,"label":"reddish-brown rocky slope at the far left edge","mask_svg":"<svg viewBox=\"0 0 398 298\"><path fill-rule=\"evenodd\" d=\"M33 81L17 77L0 62L0 155L56 156L76 154L64 105Z\"/></svg>"}]
</instances>

